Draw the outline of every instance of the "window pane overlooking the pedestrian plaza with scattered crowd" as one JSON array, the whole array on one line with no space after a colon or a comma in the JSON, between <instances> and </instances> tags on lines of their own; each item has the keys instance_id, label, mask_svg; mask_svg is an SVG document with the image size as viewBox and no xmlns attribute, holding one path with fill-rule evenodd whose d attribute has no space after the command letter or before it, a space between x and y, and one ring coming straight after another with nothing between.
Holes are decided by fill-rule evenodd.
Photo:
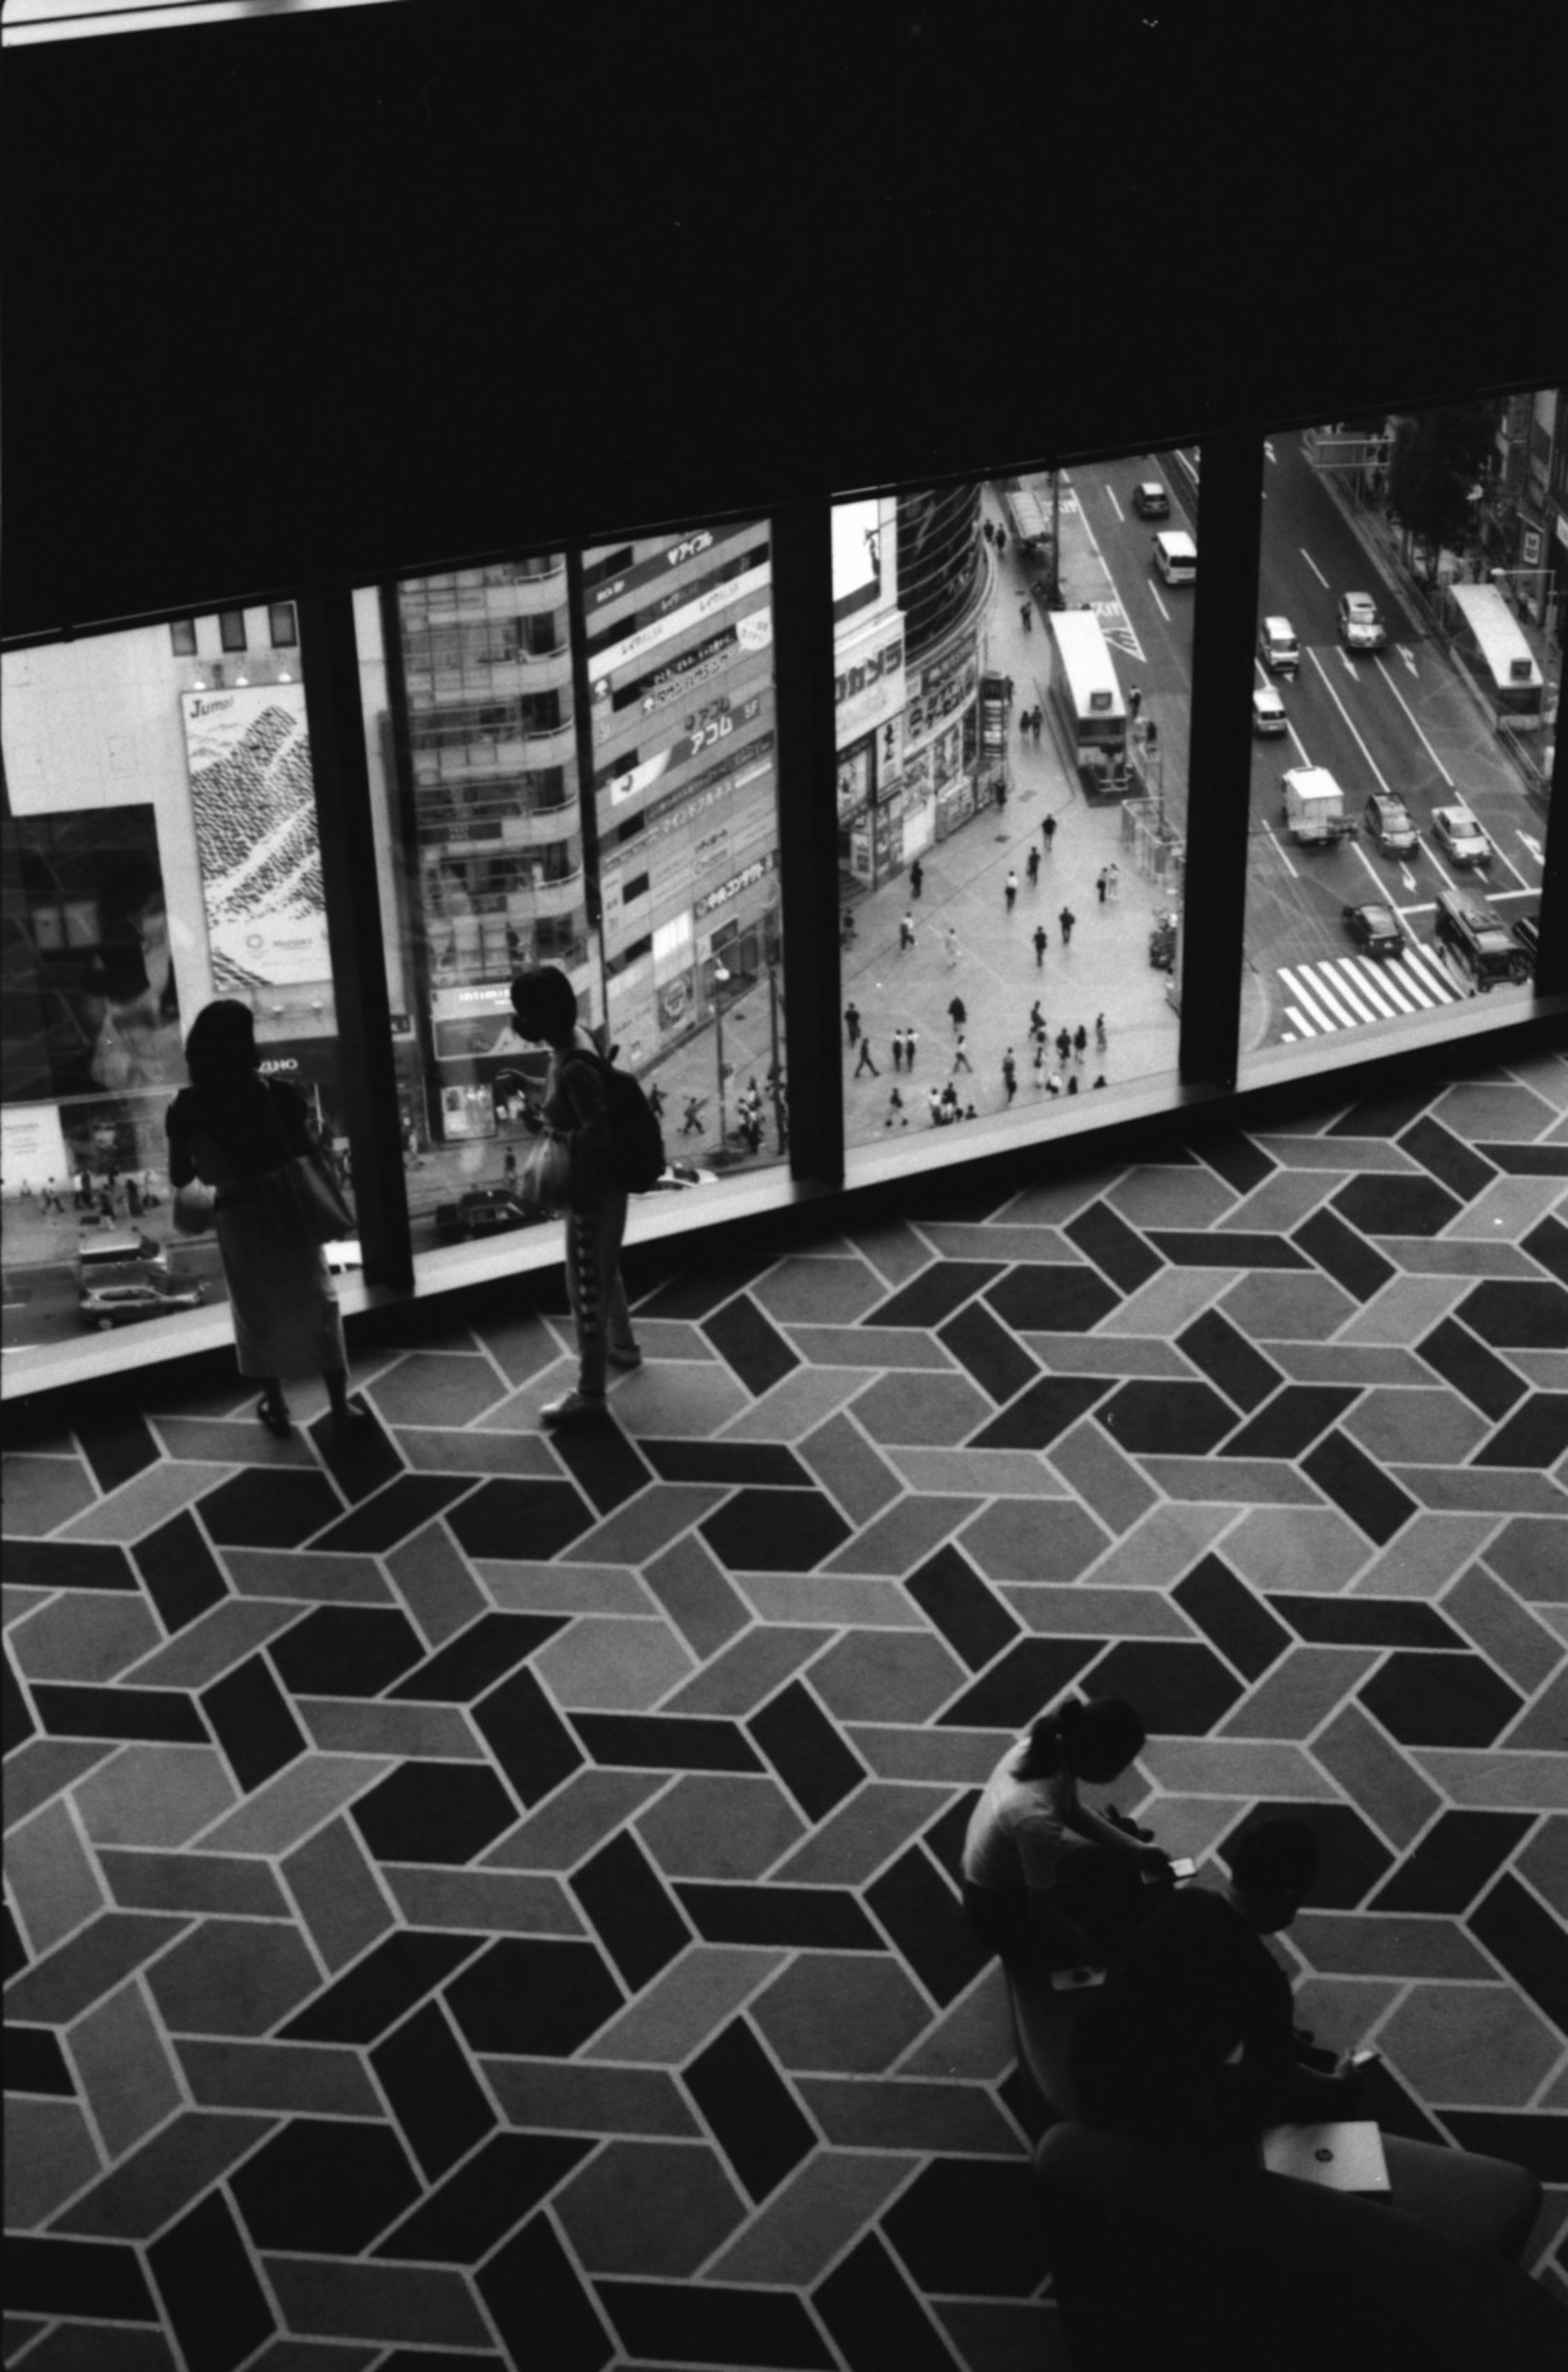
<instances>
[{"instance_id":1,"label":"window pane overlooking the pedestrian plaza with scattered crowd","mask_svg":"<svg viewBox=\"0 0 1568 2372\"><path fill-rule=\"evenodd\" d=\"M1196 484L1136 455L835 505L852 1146L1174 1070Z\"/></svg>"}]
</instances>

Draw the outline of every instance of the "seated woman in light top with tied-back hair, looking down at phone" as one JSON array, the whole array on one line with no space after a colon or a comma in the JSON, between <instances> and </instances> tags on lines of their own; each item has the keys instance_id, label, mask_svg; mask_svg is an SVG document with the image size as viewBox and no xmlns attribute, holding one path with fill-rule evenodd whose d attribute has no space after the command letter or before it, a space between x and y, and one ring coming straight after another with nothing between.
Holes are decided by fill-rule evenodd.
<instances>
[{"instance_id":1,"label":"seated woman in light top with tied-back hair, looking down at phone","mask_svg":"<svg viewBox=\"0 0 1568 2372\"><path fill-rule=\"evenodd\" d=\"M1008 1746L963 1838L963 1912L980 1943L1041 1969L1094 1964L1143 1912L1143 1869L1169 1872L1158 1845L1079 1803L1079 1781L1108 1786L1143 1746L1120 1696L1067 1698Z\"/></svg>"}]
</instances>

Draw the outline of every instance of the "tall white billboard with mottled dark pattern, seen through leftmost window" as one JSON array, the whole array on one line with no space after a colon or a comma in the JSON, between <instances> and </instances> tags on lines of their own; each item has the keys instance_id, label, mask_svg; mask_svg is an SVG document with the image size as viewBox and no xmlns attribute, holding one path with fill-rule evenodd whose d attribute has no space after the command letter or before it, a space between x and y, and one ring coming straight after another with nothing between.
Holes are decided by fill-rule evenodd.
<instances>
[{"instance_id":1,"label":"tall white billboard with mottled dark pattern, seen through leftmost window","mask_svg":"<svg viewBox=\"0 0 1568 2372\"><path fill-rule=\"evenodd\" d=\"M180 707L213 987L330 980L304 686L183 693Z\"/></svg>"}]
</instances>

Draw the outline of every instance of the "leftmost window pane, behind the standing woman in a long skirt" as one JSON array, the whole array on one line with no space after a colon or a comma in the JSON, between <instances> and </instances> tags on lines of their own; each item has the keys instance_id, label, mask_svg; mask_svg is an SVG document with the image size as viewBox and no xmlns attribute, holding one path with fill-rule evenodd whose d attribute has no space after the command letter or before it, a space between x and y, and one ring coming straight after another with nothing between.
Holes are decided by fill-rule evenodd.
<instances>
[{"instance_id":1,"label":"leftmost window pane, behind the standing woman in a long skirt","mask_svg":"<svg viewBox=\"0 0 1568 2372\"><path fill-rule=\"evenodd\" d=\"M346 1150L304 683L235 674L164 624L2 662L12 1369L225 1302L216 1241L173 1231L164 1134L213 996L251 1006L263 1070Z\"/></svg>"}]
</instances>

